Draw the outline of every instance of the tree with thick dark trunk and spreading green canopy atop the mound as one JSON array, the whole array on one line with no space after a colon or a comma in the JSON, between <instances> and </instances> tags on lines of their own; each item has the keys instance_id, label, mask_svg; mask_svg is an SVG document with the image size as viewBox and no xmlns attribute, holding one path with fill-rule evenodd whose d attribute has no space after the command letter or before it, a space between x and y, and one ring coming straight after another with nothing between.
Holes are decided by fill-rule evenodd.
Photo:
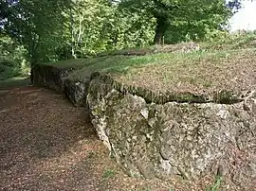
<instances>
[{"instance_id":1,"label":"tree with thick dark trunk and spreading green canopy atop the mound","mask_svg":"<svg viewBox=\"0 0 256 191\"><path fill-rule=\"evenodd\" d=\"M232 1L233 2L233 1ZM187 26L218 28L225 24L231 16L231 8L239 6L239 2L229 3L224 0L122 0L121 9L141 11L156 20L154 43L164 43L167 30L172 30L174 23L186 23ZM196 25L195 25L196 24Z\"/></svg>"}]
</instances>

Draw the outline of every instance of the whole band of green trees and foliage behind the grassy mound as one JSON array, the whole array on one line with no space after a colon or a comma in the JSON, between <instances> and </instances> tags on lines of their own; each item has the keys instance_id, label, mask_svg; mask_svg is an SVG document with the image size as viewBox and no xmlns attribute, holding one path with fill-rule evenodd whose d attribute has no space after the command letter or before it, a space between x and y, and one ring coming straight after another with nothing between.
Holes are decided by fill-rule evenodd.
<instances>
[{"instance_id":1,"label":"whole band of green trees and foliage behind the grassy mound","mask_svg":"<svg viewBox=\"0 0 256 191\"><path fill-rule=\"evenodd\" d=\"M229 8L239 5L233 2ZM87 58L154 42L214 41L227 33L221 29L232 10L224 0L15 0L0 5L0 55L18 64Z\"/></svg>"}]
</instances>

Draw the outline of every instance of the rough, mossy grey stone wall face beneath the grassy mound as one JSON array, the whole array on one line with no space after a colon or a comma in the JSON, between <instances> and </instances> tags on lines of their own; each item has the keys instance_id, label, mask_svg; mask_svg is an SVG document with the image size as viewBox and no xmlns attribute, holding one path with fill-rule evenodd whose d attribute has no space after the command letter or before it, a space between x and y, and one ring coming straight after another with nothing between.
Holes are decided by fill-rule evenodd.
<instances>
[{"instance_id":1,"label":"rough, mossy grey stone wall face beneath the grassy mound","mask_svg":"<svg viewBox=\"0 0 256 191\"><path fill-rule=\"evenodd\" d=\"M37 71L37 82L62 87L75 105L86 101L100 139L130 176L165 179L178 175L193 180L218 174L243 188L256 185L254 91L229 104L213 99L150 102L143 91L127 91L101 74L86 83L63 82L62 77L55 80L55 74L62 73L54 71L52 76ZM57 85L52 86L53 81Z\"/></svg>"}]
</instances>

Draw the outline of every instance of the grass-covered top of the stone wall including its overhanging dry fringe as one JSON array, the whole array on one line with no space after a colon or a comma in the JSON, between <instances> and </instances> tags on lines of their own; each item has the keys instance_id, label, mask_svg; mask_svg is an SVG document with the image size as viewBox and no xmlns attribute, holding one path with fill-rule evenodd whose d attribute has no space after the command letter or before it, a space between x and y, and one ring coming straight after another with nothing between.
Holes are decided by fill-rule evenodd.
<instances>
[{"instance_id":1,"label":"grass-covered top of the stone wall including its overhanging dry fringe","mask_svg":"<svg viewBox=\"0 0 256 191\"><path fill-rule=\"evenodd\" d=\"M256 90L255 48L214 47L200 49L196 43L182 43L151 48L148 52L134 49L48 64L75 68L67 78L82 82L99 72L112 78L119 89L140 96L145 93L158 97L157 100L160 97L163 102L177 97L181 102L216 101L220 95L237 102Z\"/></svg>"}]
</instances>

